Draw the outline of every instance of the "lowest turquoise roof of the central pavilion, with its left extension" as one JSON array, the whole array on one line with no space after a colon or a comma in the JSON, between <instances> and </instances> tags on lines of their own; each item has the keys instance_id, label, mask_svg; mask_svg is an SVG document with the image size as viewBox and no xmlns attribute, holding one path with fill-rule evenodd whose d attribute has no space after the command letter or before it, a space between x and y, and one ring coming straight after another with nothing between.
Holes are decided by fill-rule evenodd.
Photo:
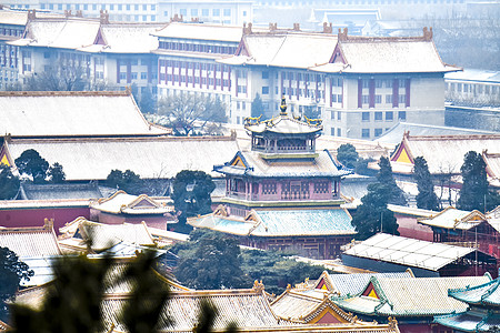
<instances>
[{"instance_id":1,"label":"lowest turquoise roof of the central pavilion, with its left extension","mask_svg":"<svg viewBox=\"0 0 500 333\"><path fill-rule=\"evenodd\" d=\"M238 235L353 235L351 216L342 209L252 211L253 219L216 214L191 218L189 224Z\"/></svg>"}]
</instances>

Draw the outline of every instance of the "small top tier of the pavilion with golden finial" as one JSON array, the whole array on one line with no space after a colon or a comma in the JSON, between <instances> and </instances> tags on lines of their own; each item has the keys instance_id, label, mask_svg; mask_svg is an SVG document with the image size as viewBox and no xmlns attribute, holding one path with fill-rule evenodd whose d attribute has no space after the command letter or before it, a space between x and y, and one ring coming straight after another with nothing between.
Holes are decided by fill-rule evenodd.
<instances>
[{"instance_id":1,"label":"small top tier of the pavilion with golden finial","mask_svg":"<svg viewBox=\"0 0 500 333\"><path fill-rule=\"evenodd\" d=\"M280 114L261 121L247 118L244 128L251 132L252 151L264 153L314 153L316 139L323 129L321 119L291 117L287 113L287 102L281 99Z\"/></svg>"}]
</instances>

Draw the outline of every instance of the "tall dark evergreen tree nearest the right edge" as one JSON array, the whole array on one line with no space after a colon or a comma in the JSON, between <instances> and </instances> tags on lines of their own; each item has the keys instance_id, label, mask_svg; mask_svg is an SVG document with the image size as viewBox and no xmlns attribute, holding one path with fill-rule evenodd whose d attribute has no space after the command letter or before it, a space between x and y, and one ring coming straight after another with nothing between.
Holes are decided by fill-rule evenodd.
<instances>
[{"instance_id":1,"label":"tall dark evergreen tree nearest the right edge","mask_svg":"<svg viewBox=\"0 0 500 333\"><path fill-rule=\"evenodd\" d=\"M488 192L488 179L486 172L486 163L481 154L470 151L466 154L462 168L462 189L457 206L460 210L472 211L479 210L484 212L484 202L490 196Z\"/></svg>"}]
</instances>

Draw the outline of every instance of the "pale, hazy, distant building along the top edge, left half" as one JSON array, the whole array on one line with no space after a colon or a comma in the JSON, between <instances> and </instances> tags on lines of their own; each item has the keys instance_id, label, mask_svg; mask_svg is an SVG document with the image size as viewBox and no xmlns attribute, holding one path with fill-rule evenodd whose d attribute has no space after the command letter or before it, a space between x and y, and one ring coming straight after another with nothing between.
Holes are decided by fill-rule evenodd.
<instances>
[{"instance_id":1,"label":"pale, hazy, distant building along the top edge, left half","mask_svg":"<svg viewBox=\"0 0 500 333\"><path fill-rule=\"evenodd\" d=\"M252 1L250 0L9 0L17 9L47 10L56 13L67 11L81 12L86 17L99 17L108 11L112 21L166 22L170 18L182 16L187 20L241 26L252 21Z\"/></svg>"}]
</instances>

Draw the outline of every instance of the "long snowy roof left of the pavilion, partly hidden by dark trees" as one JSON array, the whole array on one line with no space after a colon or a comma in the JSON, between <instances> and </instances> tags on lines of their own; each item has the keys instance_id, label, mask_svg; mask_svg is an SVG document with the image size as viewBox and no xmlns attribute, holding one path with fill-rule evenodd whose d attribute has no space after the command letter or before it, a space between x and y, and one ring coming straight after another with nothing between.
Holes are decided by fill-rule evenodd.
<instances>
[{"instance_id":1,"label":"long snowy roof left of the pavilion, partly hidden by dark trees","mask_svg":"<svg viewBox=\"0 0 500 333\"><path fill-rule=\"evenodd\" d=\"M186 169L220 176L212 167L238 151L237 142L224 137L12 138L6 145L12 162L28 149L37 150L49 164L59 162L67 180L104 180L116 169L132 170L142 179L170 179Z\"/></svg>"}]
</instances>

